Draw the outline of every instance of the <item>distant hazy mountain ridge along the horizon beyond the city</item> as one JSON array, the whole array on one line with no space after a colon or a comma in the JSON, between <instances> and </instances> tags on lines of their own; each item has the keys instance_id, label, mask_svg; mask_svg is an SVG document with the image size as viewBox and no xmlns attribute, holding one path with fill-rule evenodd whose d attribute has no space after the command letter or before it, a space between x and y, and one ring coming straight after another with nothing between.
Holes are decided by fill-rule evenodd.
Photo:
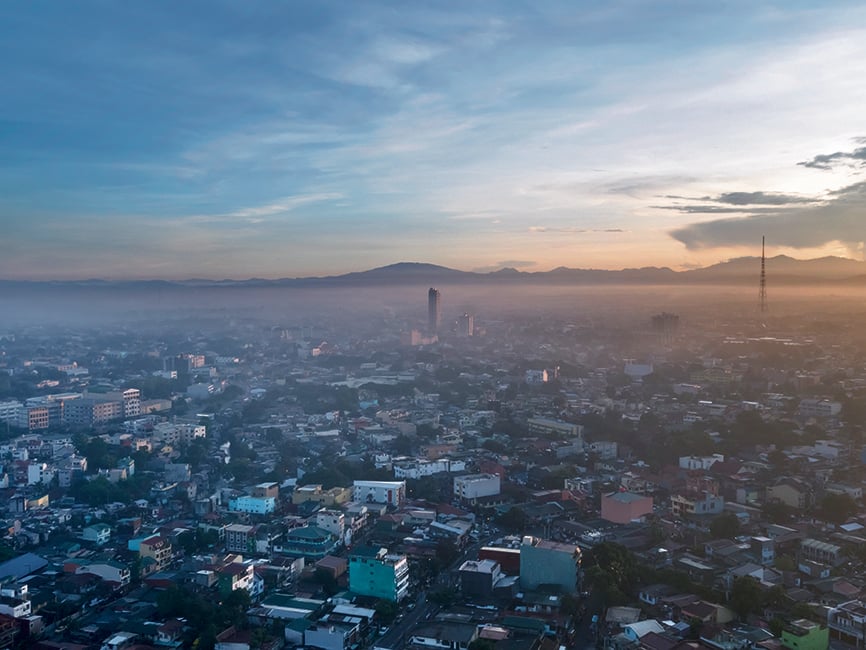
<instances>
[{"instance_id":1,"label":"distant hazy mountain ridge along the horizon beyond the city","mask_svg":"<svg viewBox=\"0 0 866 650\"><path fill-rule=\"evenodd\" d=\"M845 257L821 257L798 260L787 255L767 258L767 281L773 285L842 284L866 285L866 262ZM280 278L275 280L0 280L6 287L81 287L81 288L181 288L181 287L361 287L394 285L453 284L757 284L759 257L738 257L711 266L674 271L668 267L626 268L620 270L558 267L550 271L520 271L505 267L496 271L477 272L429 264L397 262L366 271L342 275Z\"/></svg>"}]
</instances>

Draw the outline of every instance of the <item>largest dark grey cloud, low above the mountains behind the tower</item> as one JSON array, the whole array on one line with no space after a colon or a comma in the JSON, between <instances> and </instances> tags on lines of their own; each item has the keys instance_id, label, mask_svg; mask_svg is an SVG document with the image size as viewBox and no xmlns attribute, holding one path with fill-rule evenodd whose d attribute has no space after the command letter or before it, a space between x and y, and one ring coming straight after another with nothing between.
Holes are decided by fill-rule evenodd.
<instances>
[{"instance_id":1,"label":"largest dark grey cloud, low above the mountains behind the tower","mask_svg":"<svg viewBox=\"0 0 866 650\"><path fill-rule=\"evenodd\" d=\"M751 216L694 223L671 232L690 250L754 245L766 235L774 245L813 248L840 241L852 249L866 241L866 182L832 193L820 205L779 208Z\"/></svg>"}]
</instances>

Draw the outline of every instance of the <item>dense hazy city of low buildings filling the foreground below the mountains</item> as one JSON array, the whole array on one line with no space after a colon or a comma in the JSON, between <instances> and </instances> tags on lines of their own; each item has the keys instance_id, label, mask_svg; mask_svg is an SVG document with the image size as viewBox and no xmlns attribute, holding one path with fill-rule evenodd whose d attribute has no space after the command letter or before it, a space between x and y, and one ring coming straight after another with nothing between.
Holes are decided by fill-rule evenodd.
<instances>
[{"instance_id":1,"label":"dense hazy city of low buildings filling the foreground below the mountains","mask_svg":"<svg viewBox=\"0 0 866 650\"><path fill-rule=\"evenodd\" d=\"M864 642L850 313L407 291L0 332L0 647Z\"/></svg>"}]
</instances>

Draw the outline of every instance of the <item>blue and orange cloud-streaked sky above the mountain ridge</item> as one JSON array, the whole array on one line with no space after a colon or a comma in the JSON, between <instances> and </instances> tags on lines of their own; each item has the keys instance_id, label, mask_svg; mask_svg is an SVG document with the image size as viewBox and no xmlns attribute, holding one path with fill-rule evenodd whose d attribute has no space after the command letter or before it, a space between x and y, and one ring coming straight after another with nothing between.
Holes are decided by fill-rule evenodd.
<instances>
[{"instance_id":1,"label":"blue and orange cloud-streaked sky above the mountain ridge","mask_svg":"<svg viewBox=\"0 0 866 650\"><path fill-rule=\"evenodd\" d=\"M34 0L0 61L0 279L864 253L859 0Z\"/></svg>"}]
</instances>

